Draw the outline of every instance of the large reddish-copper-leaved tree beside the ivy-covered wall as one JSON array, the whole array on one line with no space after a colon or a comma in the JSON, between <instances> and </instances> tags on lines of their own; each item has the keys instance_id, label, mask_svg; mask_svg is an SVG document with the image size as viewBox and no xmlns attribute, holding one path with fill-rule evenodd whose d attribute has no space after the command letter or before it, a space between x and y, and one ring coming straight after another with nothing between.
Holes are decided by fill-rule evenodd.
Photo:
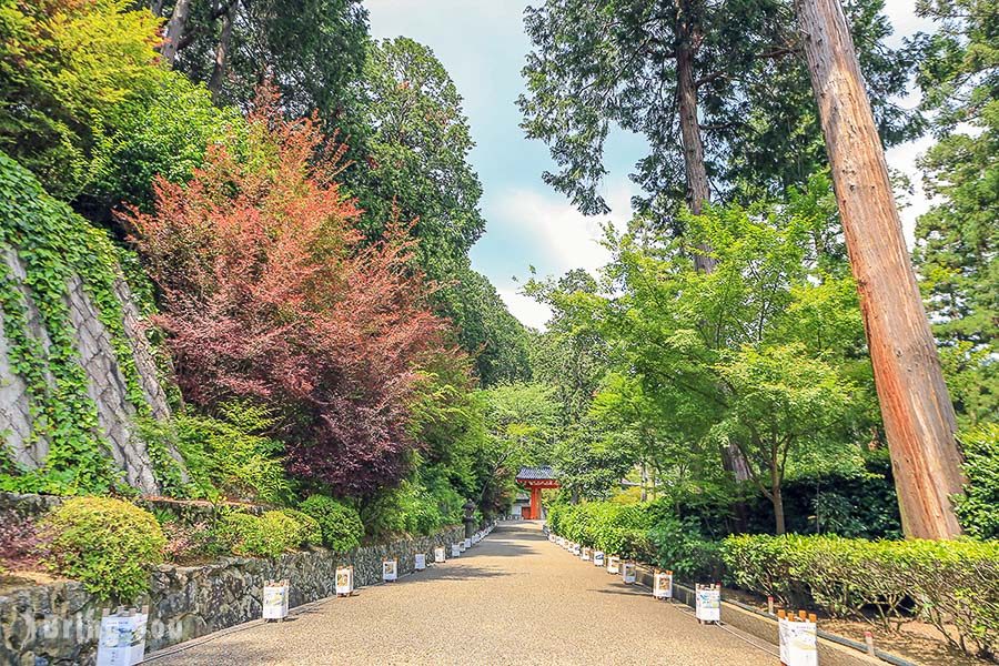
<instances>
[{"instance_id":1,"label":"large reddish-copper-leaved tree beside the ivy-covered wall","mask_svg":"<svg viewBox=\"0 0 999 666\"><path fill-rule=\"evenodd\" d=\"M407 472L406 405L421 364L454 353L446 324L406 228L363 242L317 122L284 120L268 88L249 124L244 154L211 150L127 220L162 291L157 323L188 400L275 405L292 474L369 495Z\"/></svg>"}]
</instances>

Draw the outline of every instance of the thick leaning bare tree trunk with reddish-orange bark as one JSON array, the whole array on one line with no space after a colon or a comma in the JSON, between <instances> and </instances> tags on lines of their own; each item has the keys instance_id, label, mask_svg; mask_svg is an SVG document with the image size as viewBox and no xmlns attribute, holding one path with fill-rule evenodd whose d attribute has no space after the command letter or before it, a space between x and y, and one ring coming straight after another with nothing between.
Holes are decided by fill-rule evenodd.
<instances>
[{"instance_id":1,"label":"thick leaning bare tree trunk with reddish-orange bark","mask_svg":"<svg viewBox=\"0 0 999 666\"><path fill-rule=\"evenodd\" d=\"M953 405L906 250L885 153L838 0L795 0L870 346L906 535L961 528Z\"/></svg>"}]
</instances>

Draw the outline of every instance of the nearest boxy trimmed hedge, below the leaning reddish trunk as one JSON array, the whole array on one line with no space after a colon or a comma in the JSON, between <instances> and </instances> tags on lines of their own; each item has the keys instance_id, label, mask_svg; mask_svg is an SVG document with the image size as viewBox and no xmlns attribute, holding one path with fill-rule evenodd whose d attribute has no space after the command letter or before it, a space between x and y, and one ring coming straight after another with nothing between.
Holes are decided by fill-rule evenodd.
<instances>
[{"instance_id":1,"label":"nearest boxy trimmed hedge, below the leaning reddish trunk","mask_svg":"<svg viewBox=\"0 0 999 666\"><path fill-rule=\"evenodd\" d=\"M875 610L887 628L918 615L966 652L999 654L999 542L740 535L720 554L736 585L786 605Z\"/></svg>"}]
</instances>

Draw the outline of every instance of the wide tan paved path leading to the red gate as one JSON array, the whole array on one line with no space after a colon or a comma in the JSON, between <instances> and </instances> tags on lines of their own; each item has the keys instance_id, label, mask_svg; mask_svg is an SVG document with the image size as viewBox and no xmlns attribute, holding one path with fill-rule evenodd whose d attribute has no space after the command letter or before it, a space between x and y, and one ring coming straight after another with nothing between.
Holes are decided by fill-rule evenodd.
<instances>
[{"instance_id":1,"label":"wide tan paved path leading to the red gate","mask_svg":"<svg viewBox=\"0 0 999 666\"><path fill-rule=\"evenodd\" d=\"M294 581L292 581L294 585ZM724 619L724 618L723 618ZM461 557L395 583L148 655L154 666L670 664L774 666L776 646L625 585L541 523L501 523Z\"/></svg>"}]
</instances>

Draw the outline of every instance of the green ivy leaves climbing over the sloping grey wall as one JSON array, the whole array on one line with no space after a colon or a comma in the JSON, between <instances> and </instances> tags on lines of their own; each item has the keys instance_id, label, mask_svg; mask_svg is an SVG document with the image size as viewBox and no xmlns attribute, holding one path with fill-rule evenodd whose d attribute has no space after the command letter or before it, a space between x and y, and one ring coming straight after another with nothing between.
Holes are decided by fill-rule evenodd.
<instances>
[{"instance_id":1,"label":"green ivy leaves climbing over the sloping grey wall","mask_svg":"<svg viewBox=\"0 0 999 666\"><path fill-rule=\"evenodd\" d=\"M70 494L121 487L121 473L100 432L97 405L88 395L87 372L80 364L67 305L68 285L75 274L110 335L129 402L140 416L148 416L150 406L115 290L123 276L114 244L0 153L0 246L13 248L23 263L23 284L49 339L46 349L28 333L26 296L6 262L0 262L0 309L11 370L27 385L32 441L49 442L43 470L0 485ZM153 457L169 458L163 453Z\"/></svg>"}]
</instances>

